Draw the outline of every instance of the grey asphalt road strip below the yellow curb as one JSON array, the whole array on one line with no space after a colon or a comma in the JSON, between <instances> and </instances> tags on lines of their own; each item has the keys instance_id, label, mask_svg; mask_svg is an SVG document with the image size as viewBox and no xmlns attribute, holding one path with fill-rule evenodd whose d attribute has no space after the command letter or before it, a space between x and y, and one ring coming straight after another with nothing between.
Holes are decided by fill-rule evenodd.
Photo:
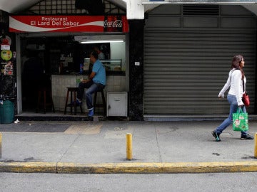
<instances>
[{"instance_id":1,"label":"grey asphalt road strip below the yellow curb","mask_svg":"<svg viewBox=\"0 0 257 192\"><path fill-rule=\"evenodd\" d=\"M0 192L256 191L257 173L232 174L7 174Z\"/></svg>"}]
</instances>

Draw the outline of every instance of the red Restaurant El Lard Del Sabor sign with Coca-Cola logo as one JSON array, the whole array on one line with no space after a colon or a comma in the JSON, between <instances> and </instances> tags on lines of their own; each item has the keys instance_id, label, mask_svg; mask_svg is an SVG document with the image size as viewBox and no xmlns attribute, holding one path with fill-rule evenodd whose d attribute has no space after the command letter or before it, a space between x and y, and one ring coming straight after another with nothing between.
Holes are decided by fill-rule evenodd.
<instances>
[{"instance_id":1,"label":"red Restaurant El Lard Del Sabor sign with Coca-Cola logo","mask_svg":"<svg viewBox=\"0 0 257 192\"><path fill-rule=\"evenodd\" d=\"M129 32L126 16L9 16L10 32Z\"/></svg>"}]
</instances>

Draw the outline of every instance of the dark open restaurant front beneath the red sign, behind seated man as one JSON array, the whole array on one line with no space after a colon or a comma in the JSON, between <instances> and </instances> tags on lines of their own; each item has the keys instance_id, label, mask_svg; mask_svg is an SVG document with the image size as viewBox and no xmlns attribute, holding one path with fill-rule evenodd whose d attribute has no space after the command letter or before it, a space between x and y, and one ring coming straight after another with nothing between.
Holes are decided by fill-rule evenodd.
<instances>
[{"instance_id":1,"label":"dark open restaurant front beneath the red sign, behind seated man","mask_svg":"<svg viewBox=\"0 0 257 192\"><path fill-rule=\"evenodd\" d=\"M63 114L66 87L77 87L80 80L91 73L89 55L96 48L101 53L99 59L106 67L108 85L105 92L127 90L126 35L44 35L20 37L22 112L36 112L39 90L46 87L51 90L56 112ZM96 41L82 42L85 38ZM103 39L105 41L101 41ZM87 111L86 105L83 109ZM52 112L51 106L47 112ZM99 114L104 112L99 109Z\"/></svg>"}]
</instances>

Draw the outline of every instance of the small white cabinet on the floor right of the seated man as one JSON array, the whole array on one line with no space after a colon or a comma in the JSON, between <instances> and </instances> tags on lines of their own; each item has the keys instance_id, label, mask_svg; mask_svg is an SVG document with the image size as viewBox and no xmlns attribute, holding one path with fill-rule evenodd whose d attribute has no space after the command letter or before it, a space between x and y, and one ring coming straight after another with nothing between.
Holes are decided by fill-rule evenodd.
<instances>
[{"instance_id":1,"label":"small white cabinet on the floor right of the seated man","mask_svg":"<svg viewBox=\"0 0 257 192\"><path fill-rule=\"evenodd\" d=\"M107 92L107 117L128 117L128 92Z\"/></svg>"}]
</instances>

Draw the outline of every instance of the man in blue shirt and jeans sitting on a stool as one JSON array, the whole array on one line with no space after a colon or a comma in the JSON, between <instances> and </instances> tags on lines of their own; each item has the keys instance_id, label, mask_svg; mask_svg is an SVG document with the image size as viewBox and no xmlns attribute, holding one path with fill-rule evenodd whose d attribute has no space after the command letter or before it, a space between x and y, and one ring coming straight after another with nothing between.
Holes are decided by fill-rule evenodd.
<instances>
[{"instance_id":1,"label":"man in blue shirt and jeans sitting on a stool","mask_svg":"<svg viewBox=\"0 0 257 192\"><path fill-rule=\"evenodd\" d=\"M79 83L78 94L76 98L76 105L82 105L82 97L84 88L86 90L86 105L89 110L89 117L94 116L94 106L92 94L98 90L104 89L106 85L106 71L103 63L98 59L98 53L93 51L90 55L90 62L93 63L93 69L89 75L89 79L82 80Z\"/></svg>"}]
</instances>

